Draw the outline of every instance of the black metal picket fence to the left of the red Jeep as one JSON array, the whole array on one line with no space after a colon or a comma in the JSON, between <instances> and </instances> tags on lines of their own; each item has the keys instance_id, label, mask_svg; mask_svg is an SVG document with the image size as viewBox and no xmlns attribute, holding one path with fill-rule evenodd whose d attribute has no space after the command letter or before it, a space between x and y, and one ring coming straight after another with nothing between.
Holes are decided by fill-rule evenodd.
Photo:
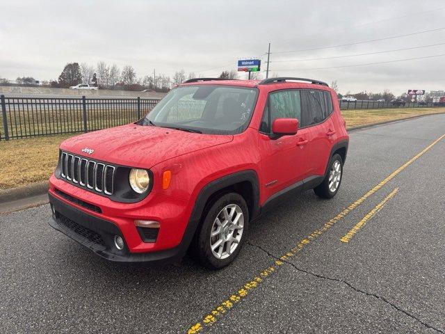
<instances>
[{"instance_id":1,"label":"black metal picket fence to the left of the red Jeep","mask_svg":"<svg viewBox=\"0 0 445 334\"><path fill-rule=\"evenodd\" d=\"M159 102L151 99L36 98L1 99L0 140L90 132L139 120ZM3 125L3 129L1 129Z\"/></svg>"}]
</instances>

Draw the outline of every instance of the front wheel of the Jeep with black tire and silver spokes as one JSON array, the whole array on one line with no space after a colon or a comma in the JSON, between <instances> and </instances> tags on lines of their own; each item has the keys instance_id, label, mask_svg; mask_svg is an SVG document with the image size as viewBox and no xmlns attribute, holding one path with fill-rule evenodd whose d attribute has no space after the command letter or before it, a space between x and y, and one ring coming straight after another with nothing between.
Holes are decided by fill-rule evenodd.
<instances>
[{"instance_id":1,"label":"front wheel of the Jeep with black tire and silver spokes","mask_svg":"<svg viewBox=\"0 0 445 334\"><path fill-rule=\"evenodd\" d=\"M195 254L204 267L222 269L240 252L248 230L249 212L238 193L216 200L202 221L195 238Z\"/></svg>"}]
</instances>

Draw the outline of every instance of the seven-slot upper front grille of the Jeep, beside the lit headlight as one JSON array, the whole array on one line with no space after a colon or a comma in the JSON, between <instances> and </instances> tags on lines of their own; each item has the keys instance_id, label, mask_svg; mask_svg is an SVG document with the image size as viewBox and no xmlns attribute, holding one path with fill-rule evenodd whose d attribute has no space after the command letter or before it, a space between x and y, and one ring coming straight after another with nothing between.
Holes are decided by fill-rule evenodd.
<instances>
[{"instance_id":1,"label":"seven-slot upper front grille of the Jeep, beside the lit headlight","mask_svg":"<svg viewBox=\"0 0 445 334\"><path fill-rule=\"evenodd\" d=\"M81 187L113 195L115 167L78 157L67 152L60 155L60 176Z\"/></svg>"}]
</instances>

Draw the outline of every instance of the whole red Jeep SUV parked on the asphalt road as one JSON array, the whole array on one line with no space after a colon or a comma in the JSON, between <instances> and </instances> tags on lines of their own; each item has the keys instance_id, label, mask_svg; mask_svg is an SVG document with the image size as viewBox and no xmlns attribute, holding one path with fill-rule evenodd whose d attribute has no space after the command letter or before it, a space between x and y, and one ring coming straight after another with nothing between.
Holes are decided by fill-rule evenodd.
<instances>
[{"instance_id":1,"label":"whole red Jeep SUV parked on the asphalt road","mask_svg":"<svg viewBox=\"0 0 445 334\"><path fill-rule=\"evenodd\" d=\"M180 260L191 248L219 269L284 196L335 196L347 150L324 82L191 79L142 120L60 145L49 224L108 260Z\"/></svg>"}]
</instances>

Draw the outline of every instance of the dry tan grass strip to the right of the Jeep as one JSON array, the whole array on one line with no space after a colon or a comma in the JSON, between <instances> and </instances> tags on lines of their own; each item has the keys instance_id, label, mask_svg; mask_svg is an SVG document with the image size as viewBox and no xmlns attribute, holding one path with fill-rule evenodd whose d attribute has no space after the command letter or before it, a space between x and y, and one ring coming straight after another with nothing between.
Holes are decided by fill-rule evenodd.
<instances>
[{"instance_id":1,"label":"dry tan grass strip to the right of the Jeep","mask_svg":"<svg viewBox=\"0 0 445 334\"><path fill-rule=\"evenodd\" d=\"M445 113L445 108L361 109L341 111L341 115L346 120L346 127L428 115L430 113Z\"/></svg>"}]
</instances>

